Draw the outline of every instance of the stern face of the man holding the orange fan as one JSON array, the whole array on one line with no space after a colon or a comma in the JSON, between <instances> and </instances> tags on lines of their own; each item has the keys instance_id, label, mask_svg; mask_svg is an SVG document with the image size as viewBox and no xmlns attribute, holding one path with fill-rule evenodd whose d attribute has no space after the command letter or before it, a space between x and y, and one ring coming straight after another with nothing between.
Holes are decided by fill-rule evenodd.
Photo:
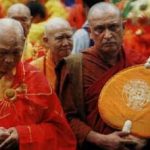
<instances>
[{"instance_id":1,"label":"stern face of the man holding the orange fan","mask_svg":"<svg viewBox=\"0 0 150 150\"><path fill-rule=\"evenodd\" d=\"M117 54L121 49L123 27L120 15L99 12L90 22L96 48L104 54Z\"/></svg>"}]
</instances>

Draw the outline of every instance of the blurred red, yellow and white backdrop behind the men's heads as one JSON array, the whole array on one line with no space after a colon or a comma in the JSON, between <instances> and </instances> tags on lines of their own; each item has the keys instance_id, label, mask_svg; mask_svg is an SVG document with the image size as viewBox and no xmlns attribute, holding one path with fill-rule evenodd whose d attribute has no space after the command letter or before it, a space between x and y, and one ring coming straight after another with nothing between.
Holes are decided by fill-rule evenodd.
<instances>
[{"instance_id":1,"label":"blurred red, yellow and white backdrop behind the men's heads","mask_svg":"<svg viewBox=\"0 0 150 150\"><path fill-rule=\"evenodd\" d=\"M125 28L124 46L126 47L126 53L131 55L131 57L134 55L135 63L143 63L150 54L148 42L150 39L150 2L148 0L105 1L116 4L122 11ZM95 0L95 2L98 2L98 0ZM84 29L87 29L85 26L87 9L95 2L91 2L90 0L1 0L0 17L5 17L7 9L15 3L24 3L30 8L33 19L28 34L28 39L31 43L28 49L32 49L32 53L28 52L25 56L25 60L31 61L45 53L41 37L44 32L44 24L48 19L52 17L67 19L74 32L84 27ZM78 45L78 41L74 40L74 48ZM81 44L85 45L83 43L84 39ZM82 48L85 47L81 46L81 49ZM76 49L76 52L78 51Z\"/></svg>"}]
</instances>

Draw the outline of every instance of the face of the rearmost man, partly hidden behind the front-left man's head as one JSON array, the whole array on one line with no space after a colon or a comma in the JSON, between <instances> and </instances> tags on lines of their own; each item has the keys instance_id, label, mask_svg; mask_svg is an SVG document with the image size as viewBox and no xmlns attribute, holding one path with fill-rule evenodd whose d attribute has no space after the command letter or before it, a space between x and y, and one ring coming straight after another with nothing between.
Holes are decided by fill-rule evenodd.
<instances>
[{"instance_id":1,"label":"face of the rearmost man, partly hidden behind the front-left man's head","mask_svg":"<svg viewBox=\"0 0 150 150\"><path fill-rule=\"evenodd\" d=\"M31 26L31 16L26 12L26 10L16 9L12 11L9 18L19 21L24 29L25 37L27 37L30 26Z\"/></svg>"}]
</instances>

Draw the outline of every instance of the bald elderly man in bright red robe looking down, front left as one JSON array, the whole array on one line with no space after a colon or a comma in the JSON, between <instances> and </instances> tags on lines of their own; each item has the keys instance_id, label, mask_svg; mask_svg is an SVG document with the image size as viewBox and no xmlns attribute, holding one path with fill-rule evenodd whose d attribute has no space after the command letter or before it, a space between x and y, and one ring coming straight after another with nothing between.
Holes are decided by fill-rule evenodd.
<instances>
[{"instance_id":1,"label":"bald elderly man in bright red robe looking down, front left","mask_svg":"<svg viewBox=\"0 0 150 150\"><path fill-rule=\"evenodd\" d=\"M75 150L73 133L46 78L20 62L25 42L21 24L5 18L0 28L0 149Z\"/></svg>"}]
</instances>

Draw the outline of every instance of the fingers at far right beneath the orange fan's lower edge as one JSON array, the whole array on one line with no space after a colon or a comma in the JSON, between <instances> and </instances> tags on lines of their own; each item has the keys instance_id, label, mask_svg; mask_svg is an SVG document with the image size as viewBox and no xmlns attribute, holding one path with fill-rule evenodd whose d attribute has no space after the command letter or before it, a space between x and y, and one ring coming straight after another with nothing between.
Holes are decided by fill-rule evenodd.
<instances>
[{"instance_id":1,"label":"fingers at far right beneath the orange fan's lower edge","mask_svg":"<svg viewBox=\"0 0 150 150\"><path fill-rule=\"evenodd\" d=\"M144 146L146 146L146 144L147 144L146 139L138 138L133 135L128 135L126 137L126 139L131 139L137 143L137 145L134 148L132 148L132 150L142 150L144 148Z\"/></svg>"}]
</instances>

